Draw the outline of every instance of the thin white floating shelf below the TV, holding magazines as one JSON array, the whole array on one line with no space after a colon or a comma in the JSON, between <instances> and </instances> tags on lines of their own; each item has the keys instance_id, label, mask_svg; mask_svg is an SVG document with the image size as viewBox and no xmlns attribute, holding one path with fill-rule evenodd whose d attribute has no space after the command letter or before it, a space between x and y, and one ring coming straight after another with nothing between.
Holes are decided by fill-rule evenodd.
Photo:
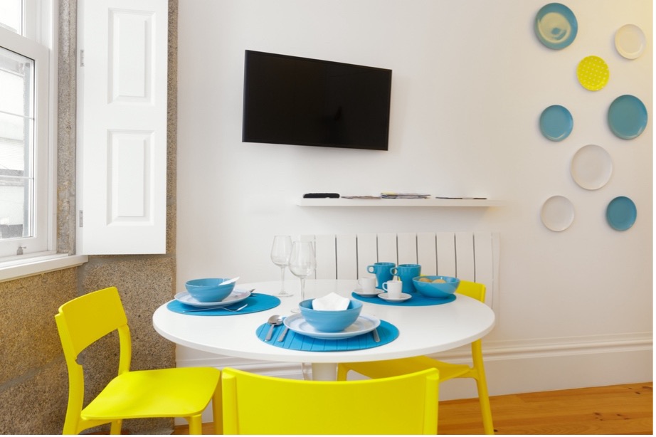
<instances>
[{"instance_id":1,"label":"thin white floating shelf below the TV, holding magazines","mask_svg":"<svg viewBox=\"0 0 656 437\"><path fill-rule=\"evenodd\" d=\"M298 206L455 206L480 207L504 206L505 202L490 199L298 199Z\"/></svg>"}]
</instances>

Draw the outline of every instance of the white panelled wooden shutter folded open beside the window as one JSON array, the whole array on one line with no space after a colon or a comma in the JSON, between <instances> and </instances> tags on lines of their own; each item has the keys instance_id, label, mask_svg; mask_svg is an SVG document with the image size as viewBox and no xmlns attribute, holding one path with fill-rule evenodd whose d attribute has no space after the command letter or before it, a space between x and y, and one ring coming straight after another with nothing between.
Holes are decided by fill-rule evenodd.
<instances>
[{"instance_id":1,"label":"white panelled wooden shutter folded open beside the window","mask_svg":"<svg viewBox=\"0 0 656 437\"><path fill-rule=\"evenodd\" d=\"M78 2L78 253L166 252L168 2Z\"/></svg>"}]
</instances>

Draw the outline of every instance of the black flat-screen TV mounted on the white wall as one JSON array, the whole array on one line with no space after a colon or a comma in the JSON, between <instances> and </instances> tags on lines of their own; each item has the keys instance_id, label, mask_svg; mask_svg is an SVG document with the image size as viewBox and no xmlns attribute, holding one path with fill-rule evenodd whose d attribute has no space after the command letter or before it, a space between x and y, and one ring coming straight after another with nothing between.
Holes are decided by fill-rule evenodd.
<instances>
[{"instance_id":1,"label":"black flat-screen TV mounted on the white wall","mask_svg":"<svg viewBox=\"0 0 656 437\"><path fill-rule=\"evenodd\" d=\"M243 142L388 149L392 71L245 51Z\"/></svg>"}]
</instances>

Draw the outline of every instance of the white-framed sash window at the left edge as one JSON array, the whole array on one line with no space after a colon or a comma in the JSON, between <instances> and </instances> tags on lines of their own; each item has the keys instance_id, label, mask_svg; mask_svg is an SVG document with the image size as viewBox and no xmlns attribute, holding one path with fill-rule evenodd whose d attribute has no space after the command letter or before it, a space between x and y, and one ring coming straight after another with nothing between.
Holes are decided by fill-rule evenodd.
<instances>
[{"instance_id":1,"label":"white-framed sash window at the left edge","mask_svg":"<svg viewBox=\"0 0 656 437\"><path fill-rule=\"evenodd\" d=\"M39 19L50 15L42 10L49 3L0 4L0 258L5 259L53 249L51 51L36 38L48 33L38 26L50 22Z\"/></svg>"}]
</instances>

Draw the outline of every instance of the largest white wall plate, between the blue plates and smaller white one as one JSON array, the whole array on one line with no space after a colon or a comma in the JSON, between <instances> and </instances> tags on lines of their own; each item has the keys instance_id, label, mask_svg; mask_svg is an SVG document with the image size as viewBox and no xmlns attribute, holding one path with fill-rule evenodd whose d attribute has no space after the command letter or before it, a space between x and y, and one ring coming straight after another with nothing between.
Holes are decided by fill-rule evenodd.
<instances>
[{"instance_id":1,"label":"largest white wall plate, between the blue plates and smaller white one","mask_svg":"<svg viewBox=\"0 0 656 437\"><path fill-rule=\"evenodd\" d=\"M589 190L600 189L613 173L613 159L603 147L588 144L574 154L571 174L576 183Z\"/></svg>"}]
</instances>

